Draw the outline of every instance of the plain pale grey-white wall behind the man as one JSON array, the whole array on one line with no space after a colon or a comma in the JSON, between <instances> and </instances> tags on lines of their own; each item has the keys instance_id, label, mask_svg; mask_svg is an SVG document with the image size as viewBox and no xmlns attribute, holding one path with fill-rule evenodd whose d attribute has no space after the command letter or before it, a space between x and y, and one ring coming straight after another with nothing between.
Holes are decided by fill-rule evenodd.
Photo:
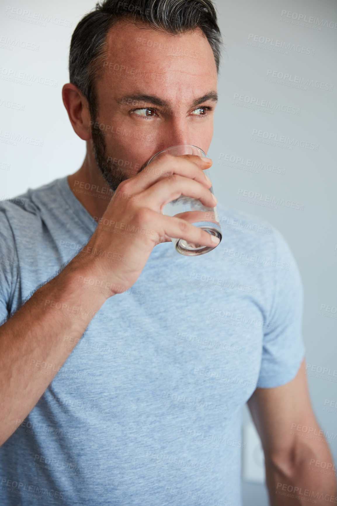
<instances>
[{"instance_id":1,"label":"plain pale grey-white wall behind the man","mask_svg":"<svg viewBox=\"0 0 337 506\"><path fill-rule=\"evenodd\" d=\"M16 0L0 7L0 199L71 174L82 162L85 143L72 131L61 89L68 81L72 31L94 5L94 0ZM337 402L333 381L337 381L333 376L337 370L337 3L217 0L216 5L226 54L208 151L214 160L213 186L224 205L262 216L276 226L299 264L305 289L303 332L310 393L322 429L333 433L329 443L337 460L337 408L326 410L326 400ZM289 139L286 147L284 142L266 143L281 136ZM310 149L313 146L316 149ZM241 190L259 193L262 199L269 195L280 199L280 204L273 209L257 205L260 197L242 201L237 199ZM302 209L287 207L282 200L301 204ZM321 311L322 305L327 311ZM244 430L253 437L246 411ZM252 453L258 466L261 456L258 450ZM254 471L249 458L246 455L250 471L246 468L244 477L259 481L261 470ZM262 485L246 483L244 497L250 506L267 504Z\"/></svg>"}]
</instances>

